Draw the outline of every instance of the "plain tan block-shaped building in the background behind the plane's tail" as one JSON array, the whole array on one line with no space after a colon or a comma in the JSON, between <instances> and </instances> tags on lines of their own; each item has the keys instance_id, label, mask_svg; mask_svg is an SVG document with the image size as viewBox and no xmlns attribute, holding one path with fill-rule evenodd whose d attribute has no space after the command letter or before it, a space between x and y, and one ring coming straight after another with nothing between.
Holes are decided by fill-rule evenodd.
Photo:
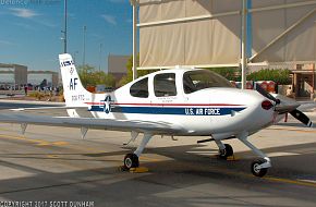
<instances>
[{"instance_id":1,"label":"plain tan block-shaped building in the background behind the plane's tail","mask_svg":"<svg viewBox=\"0 0 316 207\"><path fill-rule=\"evenodd\" d=\"M127 74L126 64L129 59L129 56L108 56L108 73L112 74L117 82Z\"/></svg>"}]
</instances>

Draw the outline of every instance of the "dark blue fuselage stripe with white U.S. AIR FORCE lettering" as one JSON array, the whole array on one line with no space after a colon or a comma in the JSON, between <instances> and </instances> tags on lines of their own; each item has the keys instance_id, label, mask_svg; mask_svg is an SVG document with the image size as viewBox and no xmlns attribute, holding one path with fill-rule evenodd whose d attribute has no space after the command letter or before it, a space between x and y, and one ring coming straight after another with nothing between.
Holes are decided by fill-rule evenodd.
<instances>
[{"instance_id":1,"label":"dark blue fuselage stripe with white U.S. AIR FORCE lettering","mask_svg":"<svg viewBox=\"0 0 316 207\"><path fill-rule=\"evenodd\" d=\"M111 106L111 112L118 113L145 113L145 114L172 114L172 115L227 115L232 111L242 111L242 108L216 108L216 107L120 107ZM89 111L105 111L104 106L92 106Z\"/></svg>"}]
</instances>

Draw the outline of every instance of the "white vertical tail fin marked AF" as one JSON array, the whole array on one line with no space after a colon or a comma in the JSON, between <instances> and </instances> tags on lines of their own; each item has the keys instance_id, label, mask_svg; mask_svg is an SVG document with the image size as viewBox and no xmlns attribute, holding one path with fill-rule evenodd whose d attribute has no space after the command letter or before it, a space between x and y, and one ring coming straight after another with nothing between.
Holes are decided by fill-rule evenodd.
<instances>
[{"instance_id":1,"label":"white vertical tail fin marked AF","mask_svg":"<svg viewBox=\"0 0 316 207\"><path fill-rule=\"evenodd\" d=\"M71 54L59 54L59 63L65 105L68 107L85 106L85 102L92 99L92 93L87 92L82 85Z\"/></svg>"}]
</instances>

